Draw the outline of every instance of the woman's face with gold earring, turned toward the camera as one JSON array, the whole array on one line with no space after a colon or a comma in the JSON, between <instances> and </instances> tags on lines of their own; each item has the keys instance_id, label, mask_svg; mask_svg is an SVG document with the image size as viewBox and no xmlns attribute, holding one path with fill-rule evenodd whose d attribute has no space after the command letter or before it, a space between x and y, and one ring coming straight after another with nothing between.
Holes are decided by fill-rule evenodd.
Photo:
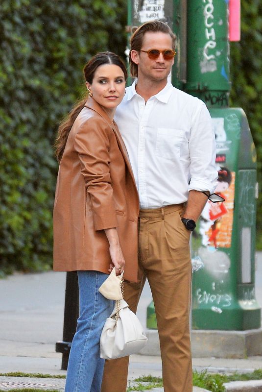
<instances>
[{"instance_id":1,"label":"woman's face with gold earring, turned toward the camera","mask_svg":"<svg viewBox=\"0 0 262 392\"><path fill-rule=\"evenodd\" d=\"M93 98L113 119L116 107L123 99L125 92L124 73L118 65L103 64L95 71L92 84L86 82Z\"/></svg>"}]
</instances>

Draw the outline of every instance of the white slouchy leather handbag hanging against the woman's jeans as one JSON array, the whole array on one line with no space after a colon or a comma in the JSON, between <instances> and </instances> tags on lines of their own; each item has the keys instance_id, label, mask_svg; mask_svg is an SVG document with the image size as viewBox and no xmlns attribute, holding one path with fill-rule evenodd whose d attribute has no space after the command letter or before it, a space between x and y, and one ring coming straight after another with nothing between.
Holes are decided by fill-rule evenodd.
<instances>
[{"instance_id":1,"label":"white slouchy leather handbag hanging against the woman's jeans","mask_svg":"<svg viewBox=\"0 0 262 392\"><path fill-rule=\"evenodd\" d=\"M120 299L106 319L100 337L100 357L114 359L136 354L146 344L147 337L141 322L128 304Z\"/></svg>"}]
</instances>

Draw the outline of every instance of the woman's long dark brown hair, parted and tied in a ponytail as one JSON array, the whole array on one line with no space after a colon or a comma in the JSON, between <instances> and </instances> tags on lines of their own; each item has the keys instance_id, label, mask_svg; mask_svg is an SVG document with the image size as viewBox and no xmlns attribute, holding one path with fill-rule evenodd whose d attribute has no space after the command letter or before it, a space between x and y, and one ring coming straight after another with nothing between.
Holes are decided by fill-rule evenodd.
<instances>
[{"instance_id":1,"label":"woman's long dark brown hair, parted and tied in a ponytail","mask_svg":"<svg viewBox=\"0 0 262 392\"><path fill-rule=\"evenodd\" d=\"M85 67L84 67L85 81L92 84L95 71L97 70L97 68L100 65L104 65L104 64L118 65L124 73L125 80L127 79L127 71L126 71L125 65L122 62L122 60L119 58L119 56L115 53L112 53L112 52L100 52L100 53L95 54L95 56L92 57L88 61L88 63L85 65ZM77 102L74 105L74 107L72 108L71 112L66 116L66 118L59 125L57 138L56 138L55 145L54 145L55 155L56 155L58 162L60 162L62 159L64 149L66 147L68 135L69 135L69 132L71 131L71 127L72 127L76 117L78 116L78 114L84 108L87 98L88 98L88 95L86 95L85 98L83 98L79 102Z\"/></svg>"}]
</instances>

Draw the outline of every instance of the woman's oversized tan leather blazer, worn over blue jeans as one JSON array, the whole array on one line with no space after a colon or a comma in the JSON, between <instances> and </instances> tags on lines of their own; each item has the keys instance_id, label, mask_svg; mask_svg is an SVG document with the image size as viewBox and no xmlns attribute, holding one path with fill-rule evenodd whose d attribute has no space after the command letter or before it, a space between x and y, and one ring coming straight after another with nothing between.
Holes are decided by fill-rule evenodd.
<instances>
[{"instance_id":1,"label":"woman's oversized tan leather blazer, worn over blue jeans","mask_svg":"<svg viewBox=\"0 0 262 392\"><path fill-rule=\"evenodd\" d=\"M54 270L109 273L104 229L117 227L124 278L137 281L139 198L116 123L93 98L76 118L60 162L54 212Z\"/></svg>"}]
</instances>

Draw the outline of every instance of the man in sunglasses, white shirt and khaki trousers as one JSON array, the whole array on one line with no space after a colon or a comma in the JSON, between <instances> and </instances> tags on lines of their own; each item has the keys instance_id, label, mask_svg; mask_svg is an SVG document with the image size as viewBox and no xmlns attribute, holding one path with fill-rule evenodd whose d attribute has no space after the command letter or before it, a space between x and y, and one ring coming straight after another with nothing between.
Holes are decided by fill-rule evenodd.
<instances>
[{"instance_id":1,"label":"man in sunglasses, white shirt and khaki trousers","mask_svg":"<svg viewBox=\"0 0 262 392\"><path fill-rule=\"evenodd\" d=\"M215 140L205 104L174 88L175 36L163 22L131 37L130 70L115 120L126 144L139 197L138 282L124 285L136 312L148 279L157 318L165 392L191 392L190 234L214 192ZM107 361L101 392L125 392L128 357Z\"/></svg>"}]
</instances>

